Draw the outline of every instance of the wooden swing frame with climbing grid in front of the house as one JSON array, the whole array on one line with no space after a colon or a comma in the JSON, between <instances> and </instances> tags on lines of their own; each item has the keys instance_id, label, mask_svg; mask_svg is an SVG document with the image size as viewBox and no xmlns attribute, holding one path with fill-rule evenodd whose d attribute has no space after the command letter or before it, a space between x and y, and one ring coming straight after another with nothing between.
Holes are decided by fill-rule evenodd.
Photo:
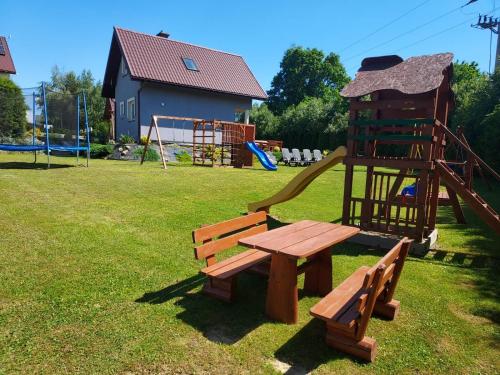
<instances>
[{"instance_id":1,"label":"wooden swing frame with climbing grid in front of the house","mask_svg":"<svg viewBox=\"0 0 500 375\"><path fill-rule=\"evenodd\" d=\"M248 151L245 142L255 139L255 125L242 124L230 121L205 120L191 117L151 116L146 145L141 157L144 162L150 141L158 142L163 168L167 168L160 127L160 120L187 121L193 124L193 165L198 166L231 166L235 168L251 167L252 154ZM155 129L156 139L153 139L152 130Z\"/></svg>"}]
</instances>

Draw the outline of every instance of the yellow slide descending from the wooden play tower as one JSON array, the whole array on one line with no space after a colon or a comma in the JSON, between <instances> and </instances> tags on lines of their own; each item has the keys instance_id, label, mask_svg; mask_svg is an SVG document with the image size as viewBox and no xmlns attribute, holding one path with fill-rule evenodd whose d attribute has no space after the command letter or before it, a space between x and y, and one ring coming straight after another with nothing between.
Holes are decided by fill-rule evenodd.
<instances>
[{"instance_id":1,"label":"yellow slide descending from the wooden play tower","mask_svg":"<svg viewBox=\"0 0 500 375\"><path fill-rule=\"evenodd\" d=\"M302 193L304 189L320 174L330 169L334 165L340 163L347 155L347 149L344 146L338 147L330 155L321 161L318 161L295 176L283 189L274 194L272 197L264 199L260 202L248 204L249 212L257 212L265 210L269 212L269 208L278 203L286 202Z\"/></svg>"}]
</instances>

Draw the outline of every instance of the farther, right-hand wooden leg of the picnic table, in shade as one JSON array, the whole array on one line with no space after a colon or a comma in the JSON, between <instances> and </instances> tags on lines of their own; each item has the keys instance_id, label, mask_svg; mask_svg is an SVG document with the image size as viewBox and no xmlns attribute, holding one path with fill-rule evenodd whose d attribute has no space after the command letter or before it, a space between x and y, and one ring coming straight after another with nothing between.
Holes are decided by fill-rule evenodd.
<instances>
[{"instance_id":1,"label":"farther, right-hand wooden leg of the picnic table, in shade","mask_svg":"<svg viewBox=\"0 0 500 375\"><path fill-rule=\"evenodd\" d=\"M304 291L326 296L332 291L332 256L330 249L315 254L313 264L305 272Z\"/></svg>"}]
</instances>

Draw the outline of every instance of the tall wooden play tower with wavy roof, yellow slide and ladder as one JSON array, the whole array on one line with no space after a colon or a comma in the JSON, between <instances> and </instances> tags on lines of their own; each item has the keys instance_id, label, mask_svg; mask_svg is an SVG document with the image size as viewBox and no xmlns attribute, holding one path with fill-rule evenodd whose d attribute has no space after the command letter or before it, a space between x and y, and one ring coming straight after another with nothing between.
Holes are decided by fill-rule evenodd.
<instances>
[{"instance_id":1,"label":"tall wooden play tower with wavy roof, yellow slide and ladder","mask_svg":"<svg viewBox=\"0 0 500 375\"><path fill-rule=\"evenodd\" d=\"M341 93L350 100L347 149L339 148L323 164L302 171L273 197L250 203L249 211L269 212L273 204L296 197L343 160L344 225L431 245L437 238L438 205L451 205L457 221L465 222L458 195L500 233L499 215L473 190L473 172L481 167L497 180L500 177L470 149L463 135L457 137L447 127L453 109L452 59L450 53L406 61L399 56L364 59L356 78ZM446 146L451 144L461 150L464 160L445 160ZM365 188L356 196L353 174L360 166L366 168L361 172ZM414 194L402 196L404 185L414 185Z\"/></svg>"}]
</instances>

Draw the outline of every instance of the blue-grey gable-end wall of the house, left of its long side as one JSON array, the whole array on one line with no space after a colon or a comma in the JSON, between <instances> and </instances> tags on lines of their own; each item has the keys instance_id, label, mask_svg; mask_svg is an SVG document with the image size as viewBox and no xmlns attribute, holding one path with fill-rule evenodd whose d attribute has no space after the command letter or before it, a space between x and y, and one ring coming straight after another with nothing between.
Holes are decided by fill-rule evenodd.
<instances>
[{"instance_id":1,"label":"blue-grey gable-end wall of the house, left of its long side","mask_svg":"<svg viewBox=\"0 0 500 375\"><path fill-rule=\"evenodd\" d=\"M120 138L122 134L128 134L137 139L138 133L138 111L137 111L137 94L141 87L139 81L133 81L130 78L130 74L122 73L123 59L120 64L120 69L118 69L118 76L116 78L116 88L115 88L115 126L116 126L116 138ZM127 99L135 98L136 106L136 116L133 121L128 121L127 119ZM120 103L124 103L124 113L120 114Z\"/></svg>"}]
</instances>

